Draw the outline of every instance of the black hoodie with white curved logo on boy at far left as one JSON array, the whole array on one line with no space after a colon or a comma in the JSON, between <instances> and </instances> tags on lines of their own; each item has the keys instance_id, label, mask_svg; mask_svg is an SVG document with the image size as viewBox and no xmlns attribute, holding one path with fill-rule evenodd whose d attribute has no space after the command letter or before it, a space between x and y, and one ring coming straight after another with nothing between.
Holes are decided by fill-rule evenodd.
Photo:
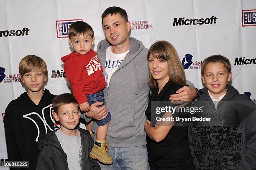
<instances>
[{"instance_id":1,"label":"black hoodie with white curved logo on boy at far left","mask_svg":"<svg viewBox=\"0 0 256 170\"><path fill-rule=\"evenodd\" d=\"M9 161L29 161L29 168L35 170L39 150L39 135L59 128L53 119L51 105L54 95L45 89L36 105L24 92L12 100L5 110L5 138ZM12 169L12 168L11 168ZM14 168L18 170L18 168Z\"/></svg>"}]
</instances>

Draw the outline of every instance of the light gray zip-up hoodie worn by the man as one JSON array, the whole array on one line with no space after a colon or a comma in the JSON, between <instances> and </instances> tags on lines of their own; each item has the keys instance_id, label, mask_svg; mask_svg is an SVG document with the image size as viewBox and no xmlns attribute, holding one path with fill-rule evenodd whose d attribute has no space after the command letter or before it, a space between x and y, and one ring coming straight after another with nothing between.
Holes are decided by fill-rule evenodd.
<instances>
[{"instance_id":1,"label":"light gray zip-up hoodie worn by the man","mask_svg":"<svg viewBox=\"0 0 256 170\"><path fill-rule=\"evenodd\" d=\"M111 113L107 142L110 147L146 145L144 123L148 105L148 62L143 43L129 37L130 51L105 88L106 107ZM107 40L98 43L97 55L105 74ZM93 131L96 132L96 123Z\"/></svg>"}]
</instances>

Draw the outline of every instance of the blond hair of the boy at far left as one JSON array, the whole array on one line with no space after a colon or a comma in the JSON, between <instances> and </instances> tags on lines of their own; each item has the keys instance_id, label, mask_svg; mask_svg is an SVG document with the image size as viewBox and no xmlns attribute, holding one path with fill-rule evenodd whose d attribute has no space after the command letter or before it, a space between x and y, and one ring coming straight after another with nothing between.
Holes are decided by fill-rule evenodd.
<instances>
[{"instance_id":1,"label":"blond hair of the boy at far left","mask_svg":"<svg viewBox=\"0 0 256 170\"><path fill-rule=\"evenodd\" d=\"M44 72L46 78L48 78L47 65L41 57L31 54L21 59L19 64L20 78L22 78L24 74L36 70L41 70Z\"/></svg>"}]
</instances>

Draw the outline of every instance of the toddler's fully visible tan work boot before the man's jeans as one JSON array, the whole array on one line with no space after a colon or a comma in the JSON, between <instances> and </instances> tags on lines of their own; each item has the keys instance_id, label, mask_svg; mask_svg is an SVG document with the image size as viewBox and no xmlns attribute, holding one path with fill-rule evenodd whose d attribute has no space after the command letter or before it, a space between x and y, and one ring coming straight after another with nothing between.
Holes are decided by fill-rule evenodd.
<instances>
[{"instance_id":1,"label":"toddler's fully visible tan work boot before the man's jeans","mask_svg":"<svg viewBox=\"0 0 256 170\"><path fill-rule=\"evenodd\" d=\"M108 155L109 149L108 144L95 142L92 151L90 153L90 157L93 159L99 160L104 164L113 164L113 159L110 155Z\"/></svg>"}]
</instances>

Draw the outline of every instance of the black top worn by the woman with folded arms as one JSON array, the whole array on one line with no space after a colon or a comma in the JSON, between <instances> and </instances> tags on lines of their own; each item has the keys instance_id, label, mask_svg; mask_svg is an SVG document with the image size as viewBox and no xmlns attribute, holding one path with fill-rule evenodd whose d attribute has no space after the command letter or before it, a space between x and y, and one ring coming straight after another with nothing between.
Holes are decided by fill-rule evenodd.
<instances>
[{"instance_id":1,"label":"black top worn by the woman with folded arms","mask_svg":"<svg viewBox=\"0 0 256 170\"><path fill-rule=\"evenodd\" d=\"M154 89L145 112L147 119L151 120L151 101L169 101L170 95L176 94L181 87L183 86L169 80L159 95L158 89ZM159 143L147 136L148 161L151 169L194 170L187 130L187 126L173 126L166 138Z\"/></svg>"}]
</instances>

